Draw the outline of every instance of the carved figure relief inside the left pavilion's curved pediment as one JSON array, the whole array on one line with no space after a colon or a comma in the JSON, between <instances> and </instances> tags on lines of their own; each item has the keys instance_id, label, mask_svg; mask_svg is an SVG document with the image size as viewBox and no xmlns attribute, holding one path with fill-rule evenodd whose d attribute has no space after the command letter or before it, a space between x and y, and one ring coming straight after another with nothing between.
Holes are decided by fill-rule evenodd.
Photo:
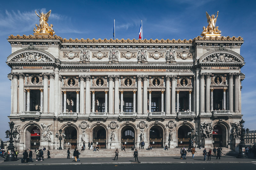
<instances>
[{"instance_id":1,"label":"carved figure relief inside the left pavilion's curved pediment","mask_svg":"<svg viewBox=\"0 0 256 170\"><path fill-rule=\"evenodd\" d=\"M37 52L26 52L15 56L12 62L50 62L50 58Z\"/></svg>"}]
</instances>

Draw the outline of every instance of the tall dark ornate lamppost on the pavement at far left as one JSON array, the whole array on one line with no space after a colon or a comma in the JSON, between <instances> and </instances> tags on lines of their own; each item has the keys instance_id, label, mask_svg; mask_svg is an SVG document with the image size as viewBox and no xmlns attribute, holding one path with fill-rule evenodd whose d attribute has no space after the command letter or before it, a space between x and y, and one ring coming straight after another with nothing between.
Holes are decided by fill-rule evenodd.
<instances>
[{"instance_id":1,"label":"tall dark ornate lamppost on the pavement at far left","mask_svg":"<svg viewBox=\"0 0 256 170\"><path fill-rule=\"evenodd\" d=\"M10 130L5 131L6 138L10 138L9 146L7 147L7 157L4 160L5 162L7 162L7 161L17 161L17 159L14 156L15 147L13 145L13 142L14 142L13 138L16 138L16 136L18 135L18 132L16 130L13 131L14 124L15 123L13 123L13 122L9 122Z\"/></svg>"}]
</instances>

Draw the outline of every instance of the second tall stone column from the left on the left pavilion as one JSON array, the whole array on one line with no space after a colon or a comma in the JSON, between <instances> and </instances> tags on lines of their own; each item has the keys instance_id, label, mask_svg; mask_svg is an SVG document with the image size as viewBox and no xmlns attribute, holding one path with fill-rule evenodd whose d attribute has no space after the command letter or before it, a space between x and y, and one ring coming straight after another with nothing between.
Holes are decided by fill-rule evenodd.
<instances>
[{"instance_id":1,"label":"second tall stone column from the left on the left pavilion","mask_svg":"<svg viewBox=\"0 0 256 170\"><path fill-rule=\"evenodd\" d=\"M24 73L19 73L19 113L24 112Z\"/></svg>"}]
</instances>

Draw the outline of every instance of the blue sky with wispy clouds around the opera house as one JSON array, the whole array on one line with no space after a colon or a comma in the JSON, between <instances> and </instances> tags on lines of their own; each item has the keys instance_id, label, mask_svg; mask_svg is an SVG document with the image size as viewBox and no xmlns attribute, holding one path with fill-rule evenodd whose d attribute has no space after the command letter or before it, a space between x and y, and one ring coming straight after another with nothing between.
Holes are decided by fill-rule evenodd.
<instances>
[{"instance_id":1,"label":"blue sky with wispy clouds around the opera house","mask_svg":"<svg viewBox=\"0 0 256 170\"><path fill-rule=\"evenodd\" d=\"M256 1L193 1L193 0L130 0L130 1L4 1L0 5L0 138L6 140L11 100L11 69L6 58L11 54L9 35L33 34L39 24L35 11L52 10L48 23L53 24L56 35L62 38L113 38L116 20L117 39L138 39L140 20L143 20L143 39L193 39L207 26L205 11L219 11L216 25L223 36L241 36L244 44L241 55L245 59L242 72L242 114L245 127L256 129Z\"/></svg>"}]
</instances>

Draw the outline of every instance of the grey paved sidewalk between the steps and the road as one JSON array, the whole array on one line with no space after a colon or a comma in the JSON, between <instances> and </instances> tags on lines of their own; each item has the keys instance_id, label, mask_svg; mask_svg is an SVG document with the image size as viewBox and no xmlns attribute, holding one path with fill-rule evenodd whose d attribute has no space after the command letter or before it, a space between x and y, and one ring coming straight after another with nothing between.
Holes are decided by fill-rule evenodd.
<instances>
[{"instance_id":1,"label":"grey paved sidewalk between the steps and the road","mask_svg":"<svg viewBox=\"0 0 256 170\"><path fill-rule=\"evenodd\" d=\"M220 159L212 157L211 161L204 161L204 157L194 157L188 154L187 159L180 159L180 157L141 157L139 155L139 160L141 164L172 164L172 163L253 163L256 162L256 158L253 158L253 154L249 154L248 159L237 159L237 155L223 155ZM44 161L35 161L32 163L21 163L21 160L13 162L4 162L3 159L0 160L0 166L3 165L70 165L70 164L132 164L137 163L131 155L129 158L118 158L118 161L113 160L113 158L81 158L80 162L75 162L75 159L67 158L54 158L54 159L44 159Z\"/></svg>"}]
</instances>

